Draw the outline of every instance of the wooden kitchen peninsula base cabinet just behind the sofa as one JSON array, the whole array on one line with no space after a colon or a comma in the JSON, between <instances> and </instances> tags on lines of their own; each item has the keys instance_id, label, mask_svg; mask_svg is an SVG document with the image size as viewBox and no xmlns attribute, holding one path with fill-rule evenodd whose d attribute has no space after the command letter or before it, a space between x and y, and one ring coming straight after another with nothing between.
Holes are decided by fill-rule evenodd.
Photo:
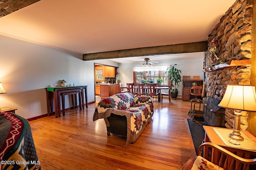
<instances>
[{"instance_id":1,"label":"wooden kitchen peninsula base cabinet just behind the sofa","mask_svg":"<svg viewBox=\"0 0 256 170\"><path fill-rule=\"evenodd\" d=\"M100 85L101 98L107 98L119 92L121 92L119 84L101 84Z\"/></svg>"}]
</instances>

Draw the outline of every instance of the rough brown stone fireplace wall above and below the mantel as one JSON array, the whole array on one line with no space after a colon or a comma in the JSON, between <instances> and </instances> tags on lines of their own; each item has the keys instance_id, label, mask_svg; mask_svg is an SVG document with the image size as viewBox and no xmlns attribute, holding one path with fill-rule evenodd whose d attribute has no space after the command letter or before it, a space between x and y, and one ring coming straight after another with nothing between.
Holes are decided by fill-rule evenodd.
<instances>
[{"instance_id":1,"label":"rough brown stone fireplace wall above and below the mantel","mask_svg":"<svg viewBox=\"0 0 256 170\"><path fill-rule=\"evenodd\" d=\"M205 67L251 59L253 1L236 0L208 36ZM251 65L236 66L206 72L206 97L222 100L227 84L250 85ZM233 127L234 111L226 109L225 126ZM241 129L248 129L248 112L243 111Z\"/></svg>"}]
</instances>

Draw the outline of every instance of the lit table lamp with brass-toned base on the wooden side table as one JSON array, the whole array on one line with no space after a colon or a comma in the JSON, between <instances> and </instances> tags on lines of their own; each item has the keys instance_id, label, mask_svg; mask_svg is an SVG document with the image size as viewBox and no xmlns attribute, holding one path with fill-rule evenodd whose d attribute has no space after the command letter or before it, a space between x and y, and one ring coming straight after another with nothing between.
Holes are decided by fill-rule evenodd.
<instances>
[{"instance_id":1,"label":"lit table lamp with brass-toned base on the wooden side table","mask_svg":"<svg viewBox=\"0 0 256 170\"><path fill-rule=\"evenodd\" d=\"M256 111L255 86L228 84L226 92L218 106L234 109L233 132L228 136L232 140L243 141L244 138L240 134L241 111Z\"/></svg>"}]
</instances>

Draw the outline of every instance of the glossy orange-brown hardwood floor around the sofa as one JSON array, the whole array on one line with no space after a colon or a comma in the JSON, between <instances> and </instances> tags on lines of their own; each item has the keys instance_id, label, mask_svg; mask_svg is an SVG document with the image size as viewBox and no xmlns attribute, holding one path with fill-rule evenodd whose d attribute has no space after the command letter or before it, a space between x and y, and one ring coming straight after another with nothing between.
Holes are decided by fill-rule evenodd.
<instances>
[{"instance_id":1,"label":"glossy orange-brown hardwood floor around the sofa","mask_svg":"<svg viewBox=\"0 0 256 170\"><path fill-rule=\"evenodd\" d=\"M65 116L30 121L42 170L179 170L193 155L185 119L190 102L154 101L154 115L134 144L107 136L103 119L92 121L96 103Z\"/></svg>"}]
</instances>

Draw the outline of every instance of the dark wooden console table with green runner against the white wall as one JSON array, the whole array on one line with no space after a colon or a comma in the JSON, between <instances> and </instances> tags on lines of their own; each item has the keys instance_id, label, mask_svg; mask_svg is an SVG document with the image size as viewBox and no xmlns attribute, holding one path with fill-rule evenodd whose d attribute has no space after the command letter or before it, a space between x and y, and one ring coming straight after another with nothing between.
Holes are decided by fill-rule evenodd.
<instances>
[{"instance_id":1,"label":"dark wooden console table with green runner against the white wall","mask_svg":"<svg viewBox=\"0 0 256 170\"><path fill-rule=\"evenodd\" d=\"M47 113L48 116L53 115L53 103L55 108L55 117L60 117L60 96L62 96L62 111L65 115L65 106L64 106L64 96L72 94L72 98L75 97L75 100L72 99L72 104L74 108L74 103L76 106L76 95L79 96L79 106L80 109L84 109L84 97L86 108L87 104L87 86L69 86L69 87L53 87L46 88L46 98L47 98ZM54 102L53 102L54 100ZM82 106L82 107L81 107Z\"/></svg>"}]
</instances>

